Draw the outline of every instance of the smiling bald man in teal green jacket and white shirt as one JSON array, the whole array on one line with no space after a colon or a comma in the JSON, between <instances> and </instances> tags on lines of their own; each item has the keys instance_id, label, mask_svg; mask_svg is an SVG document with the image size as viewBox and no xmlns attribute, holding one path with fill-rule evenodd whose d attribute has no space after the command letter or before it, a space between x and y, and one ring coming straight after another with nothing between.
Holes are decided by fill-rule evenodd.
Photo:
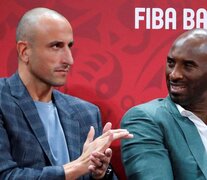
<instances>
[{"instance_id":1,"label":"smiling bald man in teal green jacket and white shirt","mask_svg":"<svg viewBox=\"0 0 207 180\"><path fill-rule=\"evenodd\" d=\"M131 108L122 128L128 179L207 179L207 30L179 36L166 58L169 96Z\"/></svg>"}]
</instances>

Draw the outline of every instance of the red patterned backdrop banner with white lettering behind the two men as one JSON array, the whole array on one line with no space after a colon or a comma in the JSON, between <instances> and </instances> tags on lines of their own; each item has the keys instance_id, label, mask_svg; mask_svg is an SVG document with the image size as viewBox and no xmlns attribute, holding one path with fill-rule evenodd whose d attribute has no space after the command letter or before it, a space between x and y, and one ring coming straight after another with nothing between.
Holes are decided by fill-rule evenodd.
<instances>
[{"instance_id":1,"label":"red patterned backdrop banner with white lettering behind the two men","mask_svg":"<svg viewBox=\"0 0 207 180\"><path fill-rule=\"evenodd\" d=\"M103 125L120 127L132 106L165 97L165 62L175 38L207 28L205 0L1 0L0 77L17 68L15 28L23 13L48 7L72 24L75 64L62 92L101 109ZM125 179L120 141L112 144L112 164Z\"/></svg>"}]
</instances>

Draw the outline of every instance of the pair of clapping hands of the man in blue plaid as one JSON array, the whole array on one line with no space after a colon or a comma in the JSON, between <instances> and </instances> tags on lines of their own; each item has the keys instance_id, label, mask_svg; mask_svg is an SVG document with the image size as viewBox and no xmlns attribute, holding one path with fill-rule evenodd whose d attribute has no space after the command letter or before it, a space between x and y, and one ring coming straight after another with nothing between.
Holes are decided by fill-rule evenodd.
<instances>
[{"instance_id":1,"label":"pair of clapping hands of the man in blue plaid","mask_svg":"<svg viewBox=\"0 0 207 180\"><path fill-rule=\"evenodd\" d=\"M126 129L111 129L111 126L111 123L106 123L103 134L95 140L94 127L90 127L81 156L63 166L66 180L76 179L89 171L93 172L95 178L102 178L105 175L112 156L109 148L111 143L117 139L133 137Z\"/></svg>"}]
</instances>

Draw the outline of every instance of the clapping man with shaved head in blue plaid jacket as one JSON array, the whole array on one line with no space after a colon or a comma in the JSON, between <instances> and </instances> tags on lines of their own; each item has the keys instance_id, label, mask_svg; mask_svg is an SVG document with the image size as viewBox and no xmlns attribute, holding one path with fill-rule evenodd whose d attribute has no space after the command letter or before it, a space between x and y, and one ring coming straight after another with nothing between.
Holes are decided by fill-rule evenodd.
<instances>
[{"instance_id":1,"label":"clapping man with shaved head in blue plaid jacket","mask_svg":"<svg viewBox=\"0 0 207 180\"><path fill-rule=\"evenodd\" d=\"M110 123L102 134L95 105L54 89L73 65L72 45L71 25L56 11L21 18L18 70L0 79L0 179L116 179L109 146L131 134Z\"/></svg>"}]
</instances>

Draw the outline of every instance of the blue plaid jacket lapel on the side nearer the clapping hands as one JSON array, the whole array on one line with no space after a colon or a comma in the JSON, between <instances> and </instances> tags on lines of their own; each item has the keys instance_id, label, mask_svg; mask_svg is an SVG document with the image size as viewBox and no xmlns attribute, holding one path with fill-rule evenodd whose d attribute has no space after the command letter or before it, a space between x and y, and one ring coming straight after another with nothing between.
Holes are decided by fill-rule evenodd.
<instances>
[{"instance_id":1,"label":"blue plaid jacket lapel on the side nearer the clapping hands","mask_svg":"<svg viewBox=\"0 0 207 180\"><path fill-rule=\"evenodd\" d=\"M59 92L53 91L53 98L65 134L70 160L72 161L77 159L82 153L79 116L75 112L73 105L69 104L71 102L65 101Z\"/></svg>"}]
</instances>

